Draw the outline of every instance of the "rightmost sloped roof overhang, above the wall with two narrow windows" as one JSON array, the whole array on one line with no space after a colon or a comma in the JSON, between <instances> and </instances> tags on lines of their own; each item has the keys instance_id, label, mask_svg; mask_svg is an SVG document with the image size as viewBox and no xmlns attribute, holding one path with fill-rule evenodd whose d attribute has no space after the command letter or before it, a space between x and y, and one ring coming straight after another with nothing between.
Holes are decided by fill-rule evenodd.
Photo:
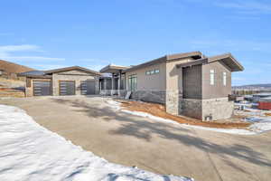
<instances>
[{"instance_id":1,"label":"rightmost sloped roof overhang, above the wall with two narrow windows","mask_svg":"<svg viewBox=\"0 0 271 181\"><path fill-rule=\"evenodd\" d=\"M210 57L209 62L223 62L231 71L244 71L244 67L232 56L231 53Z\"/></svg>"}]
</instances>

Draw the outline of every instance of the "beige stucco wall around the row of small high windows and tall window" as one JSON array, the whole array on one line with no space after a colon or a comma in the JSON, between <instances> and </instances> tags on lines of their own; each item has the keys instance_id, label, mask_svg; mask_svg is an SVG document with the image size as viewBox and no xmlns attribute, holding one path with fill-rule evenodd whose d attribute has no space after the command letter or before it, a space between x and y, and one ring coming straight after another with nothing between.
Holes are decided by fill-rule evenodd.
<instances>
[{"instance_id":1,"label":"beige stucco wall around the row of small high windows and tall window","mask_svg":"<svg viewBox=\"0 0 271 181\"><path fill-rule=\"evenodd\" d=\"M159 73L146 75L145 71L159 69ZM150 65L142 69L126 72L126 90L128 90L129 75L136 74L136 90L165 90L165 62Z\"/></svg>"}]
</instances>

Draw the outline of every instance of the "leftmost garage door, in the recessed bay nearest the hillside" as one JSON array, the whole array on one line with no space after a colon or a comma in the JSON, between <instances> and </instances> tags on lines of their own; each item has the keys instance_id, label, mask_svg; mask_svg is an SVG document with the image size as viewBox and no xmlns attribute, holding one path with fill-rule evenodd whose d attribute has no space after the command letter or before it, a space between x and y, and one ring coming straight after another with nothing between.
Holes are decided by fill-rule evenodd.
<instances>
[{"instance_id":1,"label":"leftmost garage door, in the recessed bay nearest the hillside","mask_svg":"<svg viewBox=\"0 0 271 181\"><path fill-rule=\"evenodd\" d=\"M51 81L33 81L34 96L50 96Z\"/></svg>"}]
</instances>

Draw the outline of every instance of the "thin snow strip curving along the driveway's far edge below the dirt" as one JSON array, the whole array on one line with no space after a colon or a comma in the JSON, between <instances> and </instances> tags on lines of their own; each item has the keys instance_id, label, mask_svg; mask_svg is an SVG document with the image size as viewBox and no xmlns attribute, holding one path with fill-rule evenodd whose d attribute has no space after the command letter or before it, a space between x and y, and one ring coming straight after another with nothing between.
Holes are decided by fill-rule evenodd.
<instances>
[{"instance_id":1,"label":"thin snow strip curving along the driveway's far edge below the dirt","mask_svg":"<svg viewBox=\"0 0 271 181\"><path fill-rule=\"evenodd\" d=\"M120 102L117 102L115 100L107 100L107 103L111 108L116 109L116 110L121 110L121 103ZM250 110L252 110L252 109L250 109ZM255 134L267 131L267 130L271 130L271 117L265 117L265 118L257 118L257 117L253 118L252 117L250 119L247 119L249 122L253 122L253 124L248 129L215 129L215 128L207 128L207 127L201 127L201 126L195 126L195 125L182 124L182 123L178 123L178 122L171 120L171 119L163 119L163 118L151 115L149 113L140 112L140 111L132 111L132 110L121 110L121 111L129 113L129 114L133 114L135 116L141 116L141 117L145 117L145 118L149 118L149 119L154 119L157 121L163 121L163 122L172 123L175 125L180 125L180 126L186 127L186 128L211 130L211 131L217 131L217 132L229 133L229 134L255 135ZM251 112L246 112L246 111L243 111L243 112L244 112L244 114L251 113ZM254 110L254 112L257 112L257 110ZM264 113L257 113L257 114L264 115Z\"/></svg>"}]
</instances>

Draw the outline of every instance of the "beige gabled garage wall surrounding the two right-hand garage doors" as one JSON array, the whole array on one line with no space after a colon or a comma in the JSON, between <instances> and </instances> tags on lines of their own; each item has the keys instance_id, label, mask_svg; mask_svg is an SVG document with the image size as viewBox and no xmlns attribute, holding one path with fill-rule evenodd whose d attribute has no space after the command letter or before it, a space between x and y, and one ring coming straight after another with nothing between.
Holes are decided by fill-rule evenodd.
<instances>
[{"instance_id":1,"label":"beige gabled garage wall surrounding the two right-hand garage doors","mask_svg":"<svg viewBox=\"0 0 271 181\"><path fill-rule=\"evenodd\" d=\"M75 81L75 94L80 95L80 81L96 81L96 92L98 93L98 77L85 71L62 71L52 74L52 95L59 96L60 81Z\"/></svg>"}]
</instances>

